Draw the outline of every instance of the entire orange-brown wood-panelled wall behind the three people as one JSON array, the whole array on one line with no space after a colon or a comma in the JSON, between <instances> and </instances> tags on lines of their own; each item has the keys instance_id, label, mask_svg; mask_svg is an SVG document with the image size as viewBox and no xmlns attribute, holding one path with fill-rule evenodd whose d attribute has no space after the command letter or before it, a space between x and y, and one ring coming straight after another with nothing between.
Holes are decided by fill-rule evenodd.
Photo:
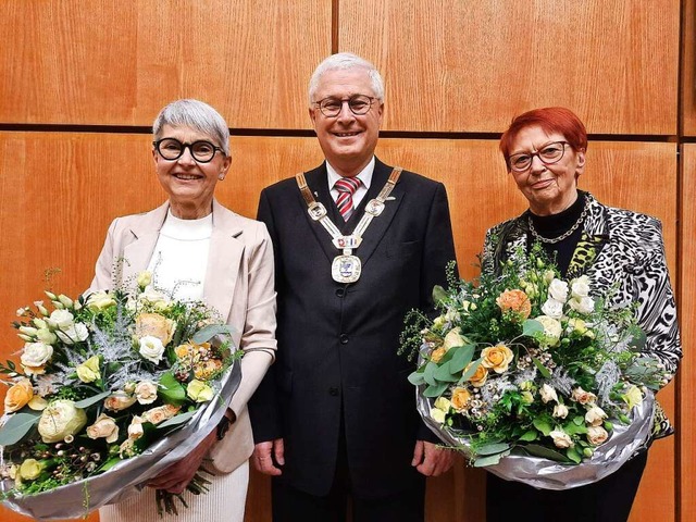
<instances>
[{"instance_id":1,"label":"entire orange-brown wood-panelled wall behind the three people","mask_svg":"<svg viewBox=\"0 0 696 522\"><path fill-rule=\"evenodd\" d=\"M253 216L261 188L321 161L307 82L353 51L386 83L380 158L447 186L463 275L485 229L524 209L497 138L535 107L586 123L582 188L662 220L687 357L660 393L678 435L650 450L631 520L696 520L695 2L3 0L0 358L20 349L9 323L47 269L62 269L53 288L79 293L111 220L163 200L148 134L161 107L194 97L226 117L233 166L217 197ZM483 473L460 463L430 481L427 520L483 520ZM0 519L27 520L2 507ZM247 520L270 520L258 474Z\"/></svg>"}]
</instances>

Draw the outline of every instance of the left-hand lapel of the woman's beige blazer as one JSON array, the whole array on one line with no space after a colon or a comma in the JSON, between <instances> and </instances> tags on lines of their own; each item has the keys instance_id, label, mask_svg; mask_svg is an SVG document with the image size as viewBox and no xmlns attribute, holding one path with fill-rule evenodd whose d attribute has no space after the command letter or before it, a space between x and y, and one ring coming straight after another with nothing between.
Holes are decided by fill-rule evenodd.
<instances>
[{"instance_id":1,"label":"left-hand lapel of the woman's beige blazer","mask_svg":"<svg viewBox=\"0 0 696 522\"><path fill-rule=\"evenodd\" d=\"M122 262L122 276L120 277L122 284L127 284L140 272L147 270L169 208L169 202L165 202L142 215L142 219L130 227L130 234L135 239L123 249L123 261L117 261Z\"/></svg>"}]
</instances>

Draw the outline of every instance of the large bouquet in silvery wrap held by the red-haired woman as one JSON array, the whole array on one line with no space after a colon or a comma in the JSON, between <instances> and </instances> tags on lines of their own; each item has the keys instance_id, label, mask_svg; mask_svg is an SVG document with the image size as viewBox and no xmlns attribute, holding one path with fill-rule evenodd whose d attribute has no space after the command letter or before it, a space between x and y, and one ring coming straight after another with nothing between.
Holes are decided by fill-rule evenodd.
<instances>
[{"instance_id":1,"label":"large bouquet in silvery wrap held by the red-haired woman","mask_svg":"<svg viewBox=\"0 0 696 522\"><path fill-rule=\"evenodd\" d=\"M450 265L448 284L434 321L409 314L401 349L420 355L409 381L425 422L473 465L574 487L646 444L664 370L641 353L632 303L593 299L586 276L562 281L538 246L477 282Z\"/></svg>"}]
</instances>

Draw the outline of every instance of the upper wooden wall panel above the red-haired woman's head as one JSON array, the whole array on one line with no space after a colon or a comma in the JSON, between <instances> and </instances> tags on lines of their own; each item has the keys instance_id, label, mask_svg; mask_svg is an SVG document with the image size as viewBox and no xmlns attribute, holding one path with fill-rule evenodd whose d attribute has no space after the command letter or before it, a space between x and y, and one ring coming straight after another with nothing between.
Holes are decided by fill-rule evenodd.
<instances>
[{"instance_id":1,"label":"upper wooden wall panel above the red-haired woman's head","mask_svg":"<svg viewBox=\"0 0 696 522\"><path fill-rule=\"evenodd\" d=\"M676 133L680 0L340 0L338 48L372 60L386 128L501 132L564 105L592 133Z\"/></svg>"}]
</instances>

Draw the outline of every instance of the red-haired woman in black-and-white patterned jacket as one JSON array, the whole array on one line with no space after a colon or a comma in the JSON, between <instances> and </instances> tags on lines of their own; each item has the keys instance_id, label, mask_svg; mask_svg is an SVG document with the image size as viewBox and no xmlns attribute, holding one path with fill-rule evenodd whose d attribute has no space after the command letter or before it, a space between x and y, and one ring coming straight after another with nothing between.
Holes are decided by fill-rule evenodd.
<instances>
[{"instance_id":1,"label":"red-haired woman in black-and-white patterned jacket","mask_svg":"<svg viewBox=\"0 0 696 522\"><path fill-rule=\"evenodd\" d=\"M682 349L660 222L606 207L577 189L585 170L587 133L568 109L535 109L517 116L500 139L500 150L530 209L488 231L483 270L497 272L520 248L540 243L564 279L587 275L597 295L618 288L612 304L636 302L638 323L647 336L645 355L673 375ZM657 410L652 438L672 433L661 409ZM535 489L489 473L488 520L626 520L646 460L647 448L643 448L599 482L560 492Z\"/></svg>"}]
</instances>

